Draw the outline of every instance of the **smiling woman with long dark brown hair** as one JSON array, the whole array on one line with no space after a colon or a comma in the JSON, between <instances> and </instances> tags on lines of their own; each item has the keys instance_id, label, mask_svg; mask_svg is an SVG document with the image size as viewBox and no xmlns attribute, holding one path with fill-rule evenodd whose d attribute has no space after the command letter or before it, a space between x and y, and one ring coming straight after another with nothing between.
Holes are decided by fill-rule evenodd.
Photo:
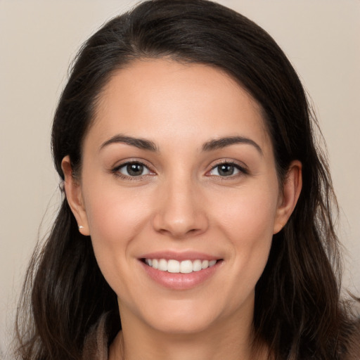
<instances>
[{"instance_id":1,"label":"smiling woman with long dark brown hair","mask_svg":"<svg viewBox=\"0 0 360 360\"><path fill-rule=\"evenodd\" d=\"M281 49L224 6L147 1L104 25L53 122L65 197L20 356L359 358L313 127Z\"/></svg>"}]
</instances>

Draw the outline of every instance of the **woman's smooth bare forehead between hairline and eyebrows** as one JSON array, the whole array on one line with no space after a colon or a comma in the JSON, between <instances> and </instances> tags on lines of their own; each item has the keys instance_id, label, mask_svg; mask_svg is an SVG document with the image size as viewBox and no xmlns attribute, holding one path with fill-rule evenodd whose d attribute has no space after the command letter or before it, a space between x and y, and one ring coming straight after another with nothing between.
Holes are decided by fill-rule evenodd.
<instances>
[{"instance_id":1,"label":"woman's smooth bare forehead between hairline and eyebrows","mask_svg":"<svg viewBox=\"0 0 360 360\"><path fill-rule=\"evenodd\" d=\"M91 128L99 141L116 133L184 143L238 135L269 145L261 108L233 78L209 65L167 59L136 60L117 70Z\"/></svg>"}]
</instances>

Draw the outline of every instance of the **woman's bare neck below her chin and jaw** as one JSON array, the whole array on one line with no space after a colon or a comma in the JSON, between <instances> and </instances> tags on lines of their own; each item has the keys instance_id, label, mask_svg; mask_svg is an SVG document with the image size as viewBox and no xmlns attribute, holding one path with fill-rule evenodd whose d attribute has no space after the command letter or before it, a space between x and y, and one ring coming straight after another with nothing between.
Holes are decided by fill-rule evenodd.
<instances>
[{"instance_id":1,"label":"woman's bare neck below her chin and jaw","mask_svg":"<svg viewBox=\"0 0 360 360\"><path fill-rule=\"evenodd\" d=\"M254 349L252 311L224 319L197 333L164 333L122 316L123 330L110 347L109 360L248 360L268 359L266 349Z\"/></svg>"}]
</instances>

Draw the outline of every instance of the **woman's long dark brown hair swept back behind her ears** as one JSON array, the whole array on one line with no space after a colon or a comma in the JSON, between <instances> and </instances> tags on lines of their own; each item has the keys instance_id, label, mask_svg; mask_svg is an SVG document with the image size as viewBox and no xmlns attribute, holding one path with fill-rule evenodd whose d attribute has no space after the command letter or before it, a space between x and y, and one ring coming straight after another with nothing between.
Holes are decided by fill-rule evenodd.
<instances>
[{"instance_id":1,"label":"woman's long dark brown hair swept back behind her ears","mask_svg":"<svg viewBox=\"0 0 360 360\"><path fill-rule=\"evenodd\" d=\"M276 359L345 359L355 328L340 300L336 203L326 160L314 141L316 120L293 66L248 18L205 0L154 0L106 23L82 46L58 103L52 131L58 174L64 179L60 165L66 155L72 169L81 171L82 141L115 70L138 58L165 56L219 68L256 99L280 181L292 160L302 162L302 193L288 224L274 236L256 285L257 342ZM116 295L65 197L44 248L32 258L22 306L22 359L81 358L86 335L105 313L109 342L120 330Z\"/></svg>"}]
</instances>

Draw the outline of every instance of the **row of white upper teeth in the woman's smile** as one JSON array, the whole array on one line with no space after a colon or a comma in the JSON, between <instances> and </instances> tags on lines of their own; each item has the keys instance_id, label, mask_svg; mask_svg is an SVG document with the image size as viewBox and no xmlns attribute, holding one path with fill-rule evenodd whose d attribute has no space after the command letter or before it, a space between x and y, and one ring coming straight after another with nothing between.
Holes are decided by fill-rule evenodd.
<instances>
[{"instance_id":1,"label":"row of white upper teeth in the woman's smile","mask_svg":"<svg viewBox=\"0 0 360 360\"><path fill-rule=\"evenodd\" d=\"M174 259L145 259L145 262L148 266L160 271L168 271L173 274L190 274L193 271L200 271L214 266L217 260L184 260L179 262Z\"/></svg>"}]
</instances>

